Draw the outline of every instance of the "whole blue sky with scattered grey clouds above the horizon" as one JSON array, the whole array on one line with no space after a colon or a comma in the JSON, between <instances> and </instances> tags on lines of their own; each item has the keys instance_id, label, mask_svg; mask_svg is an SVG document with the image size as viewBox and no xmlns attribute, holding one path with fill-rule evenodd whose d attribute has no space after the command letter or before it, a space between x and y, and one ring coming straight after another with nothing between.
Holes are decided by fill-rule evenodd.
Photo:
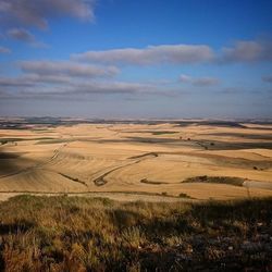
<instances>
[{"instance_id":1,"label":"whole blue sky with scattered grey clouds above the horizon","mask_svg":"<svg viewBox=\"0 0 272 272\"><path fill-rule=\"evenodd\" d=\"M0 115L272 118L271 0L0 0Z\"/></svg>"}]
</instances>

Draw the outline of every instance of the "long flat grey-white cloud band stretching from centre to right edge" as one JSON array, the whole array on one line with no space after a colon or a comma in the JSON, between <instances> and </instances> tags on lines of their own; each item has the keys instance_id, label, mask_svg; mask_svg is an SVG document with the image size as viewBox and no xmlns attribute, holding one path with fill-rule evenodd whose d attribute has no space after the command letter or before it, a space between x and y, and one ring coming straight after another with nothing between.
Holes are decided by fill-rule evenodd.
<instances>
[{"instance_id":1,"label":"long flat grey-white cloud band stretching from centre to right edge","mask_svg":"<svg viewBox=\"0 0 272 272\"><path fill-rule=\"evenodd\" d=\"M238 40L233 47L223 47L219 52L215 52L208 45L161 45L141 49L91 50L72 54L72 59L83 62L111 63L114 65L271 62L272 41Z\"/></svg>"}]
</instances>

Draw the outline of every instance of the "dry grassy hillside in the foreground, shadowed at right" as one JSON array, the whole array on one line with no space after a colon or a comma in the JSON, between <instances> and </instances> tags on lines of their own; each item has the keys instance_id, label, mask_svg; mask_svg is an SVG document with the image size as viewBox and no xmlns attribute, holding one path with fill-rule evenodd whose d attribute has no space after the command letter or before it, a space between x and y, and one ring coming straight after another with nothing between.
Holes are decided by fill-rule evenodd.
<instances>
[{"instance_id":1,"label":"dry grassy hillside in the foreground, shadowed at right","mask_svg":"<svg viewBox=\"0 0 272 272\"><path fill-rule=\"evenodd\" d=\"M4 271L271 271L272 198L118 202L17 196L0 203Z\"/></svg>"}]
</instances>

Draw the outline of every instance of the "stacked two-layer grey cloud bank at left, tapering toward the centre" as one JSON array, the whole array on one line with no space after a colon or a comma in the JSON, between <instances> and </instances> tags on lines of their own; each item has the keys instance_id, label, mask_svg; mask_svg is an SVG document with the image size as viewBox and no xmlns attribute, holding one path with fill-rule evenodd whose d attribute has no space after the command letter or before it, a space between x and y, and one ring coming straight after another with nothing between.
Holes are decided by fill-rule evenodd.
<instances>
[{"instance_id":1,"label":"stacked two-layer grey cloud bank at left, tapering toward the centre","mask_svg":"<svg viewBox=\"0 0 272 272\"><path fill-rule=\"evenodd\" d=\"M21 61L20 76L0 77L2 99L77 99L89 95L166 95L156 84L115 81L115 66Z\"/></svg>"}]
</instances>

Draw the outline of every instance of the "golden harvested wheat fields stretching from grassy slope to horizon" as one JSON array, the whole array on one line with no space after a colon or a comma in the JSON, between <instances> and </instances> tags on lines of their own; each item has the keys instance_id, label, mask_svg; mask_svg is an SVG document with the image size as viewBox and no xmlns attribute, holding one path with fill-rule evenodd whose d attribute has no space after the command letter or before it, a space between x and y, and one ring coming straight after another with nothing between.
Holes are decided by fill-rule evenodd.
<instances>
[{"instance_id":1,"label":"golden harvested wheat fields stretching from grassy slope to horizon","mask_svg":"<svg viewBox=\"0 0 272 272\"><path fill-rule=\"evenodd\" d=\"M272 196L267 123L3 120L0 143L2 200L25 193L150 201Z\"/></svg>"}]
</instances>

